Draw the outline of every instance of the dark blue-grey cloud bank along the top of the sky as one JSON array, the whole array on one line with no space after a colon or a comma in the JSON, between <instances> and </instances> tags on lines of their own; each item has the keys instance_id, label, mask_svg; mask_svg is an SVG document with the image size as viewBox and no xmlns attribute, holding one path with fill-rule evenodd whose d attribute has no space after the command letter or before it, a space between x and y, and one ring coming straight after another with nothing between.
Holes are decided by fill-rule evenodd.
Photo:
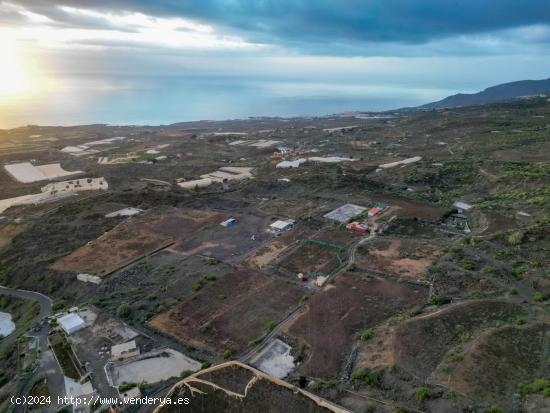
<instances>
[{"instance_id":1,"label":"dark blue-grey cloud bank along the top of the sky","mask_svg":"<svg viewBox=\"0 0 550 413\"><path fill-rule=\"evenodd\" d=\"M549 0L15 0L63 24L57 5L193 18L248 40L314 49L319 43L424 43L450 36L550 24Z\"/></svg>"}]
</instances>

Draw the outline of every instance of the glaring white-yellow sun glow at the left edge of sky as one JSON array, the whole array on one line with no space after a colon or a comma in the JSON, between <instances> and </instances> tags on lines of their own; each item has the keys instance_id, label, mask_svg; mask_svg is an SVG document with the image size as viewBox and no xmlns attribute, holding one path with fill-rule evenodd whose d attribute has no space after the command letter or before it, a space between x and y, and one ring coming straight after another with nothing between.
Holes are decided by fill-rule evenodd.
<instances>
[{"instance_id":1,"label":"glaring white-yellow sun glow at the left edge of sky","mask_svg":"<svg viewBox=\"0 0 550 413\"><path fill-rule=\"evenodd\" d=\"M21 95L31 89L31 78L19 44L0 34L0 97Z\"/></svg>"}]
</instances>

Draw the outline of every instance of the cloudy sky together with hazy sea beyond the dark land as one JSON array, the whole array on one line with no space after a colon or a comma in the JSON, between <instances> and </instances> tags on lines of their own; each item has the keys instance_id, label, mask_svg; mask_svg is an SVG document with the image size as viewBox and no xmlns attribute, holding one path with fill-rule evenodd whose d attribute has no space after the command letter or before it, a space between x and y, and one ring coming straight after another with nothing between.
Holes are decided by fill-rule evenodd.
<instances>
[{"instance_id":1,"label":"cloudy sky together with hazy sea beyond the dark land","mask_svg":"<svg viewBox=\"0 0 550 413\"><path fill-rule=\"evenodd\" d=\"M0 0L0 128L390 110L549 52L548 0Z\"/></svg>"}]
</instances>

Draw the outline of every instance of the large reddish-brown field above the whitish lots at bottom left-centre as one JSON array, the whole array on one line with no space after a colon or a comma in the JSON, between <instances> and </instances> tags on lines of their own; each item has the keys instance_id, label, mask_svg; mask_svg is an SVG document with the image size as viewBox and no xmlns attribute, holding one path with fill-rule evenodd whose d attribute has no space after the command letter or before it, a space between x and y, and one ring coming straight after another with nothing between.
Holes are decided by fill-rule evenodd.
<instances>
[{"instance_id":1,"label":"large reddish-brown field above the whitish lots at bottom left-centre","mask_svg":"<svg viewBox=\"0 0 550 413\"><path fill-rule=\"evenodd\" d=\"M294 284L242 269L154 317L150 325L196 347L236 354L261 337L268 323L289 314L303 293Z\"/></svg>"}]
</instances>

